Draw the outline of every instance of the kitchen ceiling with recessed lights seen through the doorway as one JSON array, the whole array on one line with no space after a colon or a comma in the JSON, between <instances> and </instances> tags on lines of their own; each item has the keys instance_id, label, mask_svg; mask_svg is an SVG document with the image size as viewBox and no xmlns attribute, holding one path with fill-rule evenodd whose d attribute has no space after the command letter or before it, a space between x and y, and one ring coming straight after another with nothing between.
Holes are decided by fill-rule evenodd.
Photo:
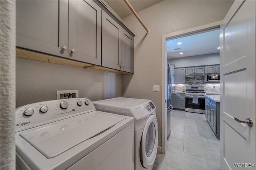
<instances>
[{"instance_id":1,"label":"kitchen ceiling with recessed lights seen through the doorway","mask_svg":"<svg viewBox=\"0 0 256 170\"><path fill-rule=\"evenodd\" d=\"M220 49L220 30L213 30L182 38L168 40L167 59L219 53ZM177 43L182 44L178 45ZM180 54L180 53L183 54Z\"/></svg>"}]
</instances>

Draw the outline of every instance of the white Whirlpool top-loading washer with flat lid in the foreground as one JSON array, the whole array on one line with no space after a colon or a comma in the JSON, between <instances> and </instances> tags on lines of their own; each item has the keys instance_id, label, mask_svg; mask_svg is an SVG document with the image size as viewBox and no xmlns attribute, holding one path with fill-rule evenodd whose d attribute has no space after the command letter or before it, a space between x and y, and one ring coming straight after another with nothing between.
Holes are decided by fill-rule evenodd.
<instances>
[{"instance_id":1,"label":"white Whirlpool top-loading washer with flat lid in the foreground","mask_svg":"<svg viewBox=\"0 0 256 170\"><path fill-rule=\"evenodd\" d=\"M134 169L134 118L96 111L89 99L16 109L16 169Z\"/></svg>"}]
</instances>

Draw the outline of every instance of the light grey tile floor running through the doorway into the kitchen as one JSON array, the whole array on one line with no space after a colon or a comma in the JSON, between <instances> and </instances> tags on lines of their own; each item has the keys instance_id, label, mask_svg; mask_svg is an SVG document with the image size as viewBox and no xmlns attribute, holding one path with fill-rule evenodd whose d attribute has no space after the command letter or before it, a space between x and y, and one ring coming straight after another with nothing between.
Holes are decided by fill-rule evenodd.
<instances>
[{"instance_id":1,"label":"light grey tile floor running through the doorway into the kitchen","mask_svg":"<svg viewBox=\"0 0 256 170\"><path fill-rule=\"evenodd\" d=\"M172 110L167 152L156 155L153 170L218 169L220 141L212 132L205 115Z\"/></svg>"}]
</instances>

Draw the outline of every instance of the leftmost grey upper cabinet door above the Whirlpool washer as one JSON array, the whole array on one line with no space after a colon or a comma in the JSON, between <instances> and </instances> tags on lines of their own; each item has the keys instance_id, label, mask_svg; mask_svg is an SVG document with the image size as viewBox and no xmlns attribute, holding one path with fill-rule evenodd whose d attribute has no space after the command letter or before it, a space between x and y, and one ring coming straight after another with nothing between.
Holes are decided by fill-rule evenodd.
<instances>
[{"instance_id":1,"label":"leftmost grey upper cabinet door above the Whirlpool washer","mask_svg":"<svg viewBox=\"0 0 256 170\"><path fill-rule=\"evenodd\" d=\"M17 0L16 46L68 57L68 0Z\"/></svg>"}]
</instances>

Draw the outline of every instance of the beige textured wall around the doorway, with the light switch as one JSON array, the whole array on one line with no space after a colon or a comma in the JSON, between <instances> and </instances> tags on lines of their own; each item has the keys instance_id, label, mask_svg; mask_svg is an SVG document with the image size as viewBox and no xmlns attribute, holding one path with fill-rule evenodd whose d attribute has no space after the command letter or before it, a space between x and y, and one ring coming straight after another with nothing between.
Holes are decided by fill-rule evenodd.
<instances>
[{"instance_id":1,"label":"beige textured wall around the doorway, with the light switch","mask_svg":"<svg viewBox=\"0 0 256 170\"><path fill-rule=\"evenodd\" d=\"M149 34L134 15L122 22L136 35L134 38L134 75L122 76L122 96L151 99L156 105L158 146L162 143L162 93L153 92L153 85L162 89L162 35L220 21L233 1L165 0L146 8L138 15L150 30Z\"/></svg>"}]
</instances>

